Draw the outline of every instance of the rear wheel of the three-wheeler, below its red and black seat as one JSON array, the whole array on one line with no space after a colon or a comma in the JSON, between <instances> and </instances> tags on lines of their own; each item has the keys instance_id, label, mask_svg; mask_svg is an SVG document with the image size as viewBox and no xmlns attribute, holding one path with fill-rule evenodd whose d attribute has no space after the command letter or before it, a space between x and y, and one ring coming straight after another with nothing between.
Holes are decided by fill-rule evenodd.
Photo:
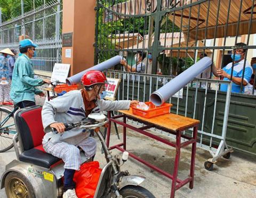
<instances>
[{"instance_id":1,"label":"rear wheel of the three-wheeler, below its red and black seat","mask_svg":"<svg viewBox=\"0 0 256 198\"><path fill-rule=\"evenodd\" d=\"M33 186L29 180L16 172L9 173L4 180L4 187L9 198L35 198Z\"/></svg>"}]
</instances>

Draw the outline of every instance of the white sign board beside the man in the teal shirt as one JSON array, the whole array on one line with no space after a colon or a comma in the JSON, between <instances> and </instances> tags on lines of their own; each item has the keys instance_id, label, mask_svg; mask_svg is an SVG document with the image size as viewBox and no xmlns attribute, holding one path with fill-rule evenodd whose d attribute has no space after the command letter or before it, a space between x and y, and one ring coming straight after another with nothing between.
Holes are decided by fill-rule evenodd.
<instances>
[{"instance_id":1,"label":"white sign board beside the man in the teal shirt","mask_svg":"<svg viewBox=\"0 0 256 198\"><path fill-rule=\"evenodd\" d=\"M55 63L52 71L51 82L53 81L66 82L69 68L70 68L70 64Z\"/></svg>"}]
</instances>

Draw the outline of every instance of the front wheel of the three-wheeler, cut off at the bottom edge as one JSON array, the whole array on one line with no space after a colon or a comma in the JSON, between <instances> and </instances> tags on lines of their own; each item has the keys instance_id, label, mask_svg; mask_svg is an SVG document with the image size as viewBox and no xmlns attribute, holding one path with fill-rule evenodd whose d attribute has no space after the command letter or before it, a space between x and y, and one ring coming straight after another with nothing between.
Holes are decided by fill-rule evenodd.
<instances>
[{"instance_id":1,"label":"front wheel of the three-wheeler, cut off at the bottom edge","mask_svg":"<svg viewBox=\"0 0 256 198\"><path fill-rule=\"evenodd\" d=\"M119 191L119 193L124 198L156 198L146 188L141 186L125 186Z\"/></svg>"}]
</instances>

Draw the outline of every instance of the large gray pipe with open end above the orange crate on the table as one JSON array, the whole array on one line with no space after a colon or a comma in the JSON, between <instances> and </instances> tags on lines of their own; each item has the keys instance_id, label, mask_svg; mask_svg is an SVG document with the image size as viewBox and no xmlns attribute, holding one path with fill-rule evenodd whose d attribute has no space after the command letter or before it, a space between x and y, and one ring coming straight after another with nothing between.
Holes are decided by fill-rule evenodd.
<instances>
[{"instance_id":1,"label":"large gray pipe with open end above the orange crate on the table","mask_svg":"<svg viewBox=\"0 0 256 198\"><path fill-rule=\"evenodd\" d=\"M197 75L201 74L207 67L212 64L212 60L209 57L204 57L194 65L190 66L182 72L180 75L176 76L169 83L165 84L160 89L156 90L150 95L150 101L153 102L155 106L162 105L166 100L171 98L177 91L185 87L190 81L196 78Z\"/></svg>"}]
</instances>

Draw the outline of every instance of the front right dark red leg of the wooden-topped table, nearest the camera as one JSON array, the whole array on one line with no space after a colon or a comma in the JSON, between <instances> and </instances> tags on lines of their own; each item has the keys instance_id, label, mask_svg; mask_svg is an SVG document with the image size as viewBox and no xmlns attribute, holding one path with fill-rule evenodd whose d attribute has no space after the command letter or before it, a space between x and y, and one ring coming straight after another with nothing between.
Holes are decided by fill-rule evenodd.
<instances>
[{"instance_id":1,"label":"front right dark red leg of the wooden-topped table, nearest the camera","mask_svg":"<svg viewBox=\"0 0 256 198\"><path fill-rule=\"evenodd\" d=\"M175 161L174 161L172 189L171 189L171 196L170 196L171 198L174 198L174 195L175 195L175 188L176 188L176 182L177 182L178 171L179 171L180 139L181 139L181 132L177 131L177 135L176 135L176 155L175 155Z\"/></svg>"}]
</instances>

